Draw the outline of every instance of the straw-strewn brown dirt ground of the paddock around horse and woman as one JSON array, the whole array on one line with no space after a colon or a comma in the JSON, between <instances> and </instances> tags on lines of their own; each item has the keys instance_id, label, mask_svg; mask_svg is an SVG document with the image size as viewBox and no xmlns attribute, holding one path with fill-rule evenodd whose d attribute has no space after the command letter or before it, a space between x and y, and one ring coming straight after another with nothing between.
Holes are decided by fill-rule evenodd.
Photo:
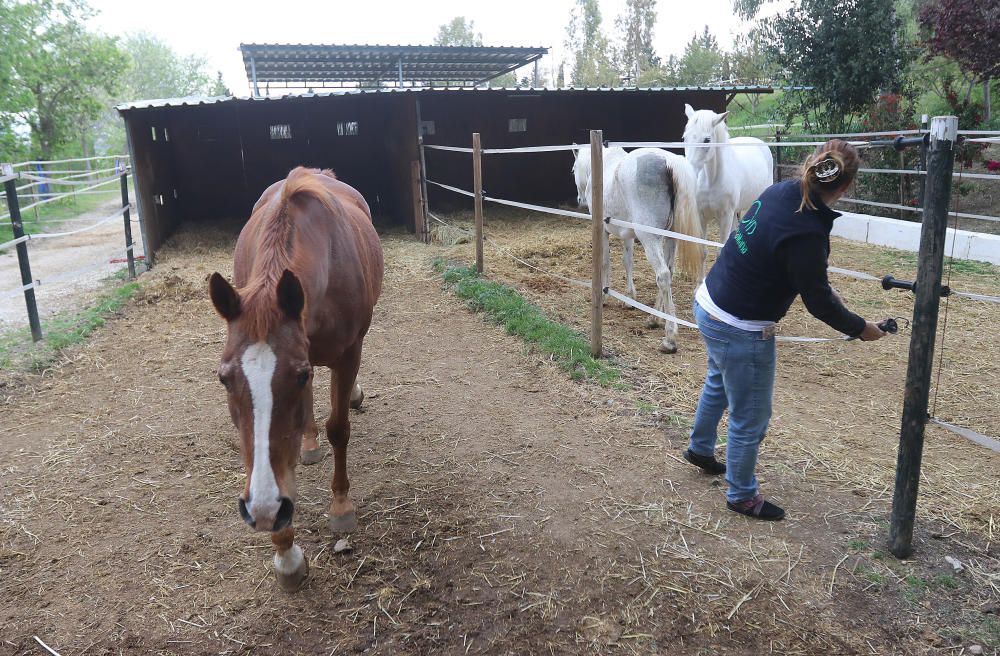
<instances>
[{"instance_id":1,"label":"straw-strewn brown dirt ground of the paddock around horse and woman","mask_svg":"<svg viewBox=\"0 0 1000 656\"><path fill-rule=\"evenodd\" d=\"M489 232L586 277L586 226ZM468 244L396 234L352 415L354 550L334 554L326 529L332 463L300 467L311 577L282 593L270 540L236 509L244 473L214 375L224 327L205 280L230 273L234 237L179 234L117 320L3 390L0 652L40 653L35 636L64 656L996 652L997 454L930 428L917 552L885 553L905 337L782 349L759 474L789 517L751 522L678 457L703 375L695 335L664 356L638 313L609 306L628 389L573 383L442 290L431 258L467 261ZM490 275L585 325L584 294L505 262L488 252ZM647 269L637 257L648 299ZM963 288L996 293L987 278ZM840 288L873 314L908 311L901 295ZM938 414L997 434L995 336L974 327L997 310L980 305L952 308Z\"/></svg>"}]
</instances>

